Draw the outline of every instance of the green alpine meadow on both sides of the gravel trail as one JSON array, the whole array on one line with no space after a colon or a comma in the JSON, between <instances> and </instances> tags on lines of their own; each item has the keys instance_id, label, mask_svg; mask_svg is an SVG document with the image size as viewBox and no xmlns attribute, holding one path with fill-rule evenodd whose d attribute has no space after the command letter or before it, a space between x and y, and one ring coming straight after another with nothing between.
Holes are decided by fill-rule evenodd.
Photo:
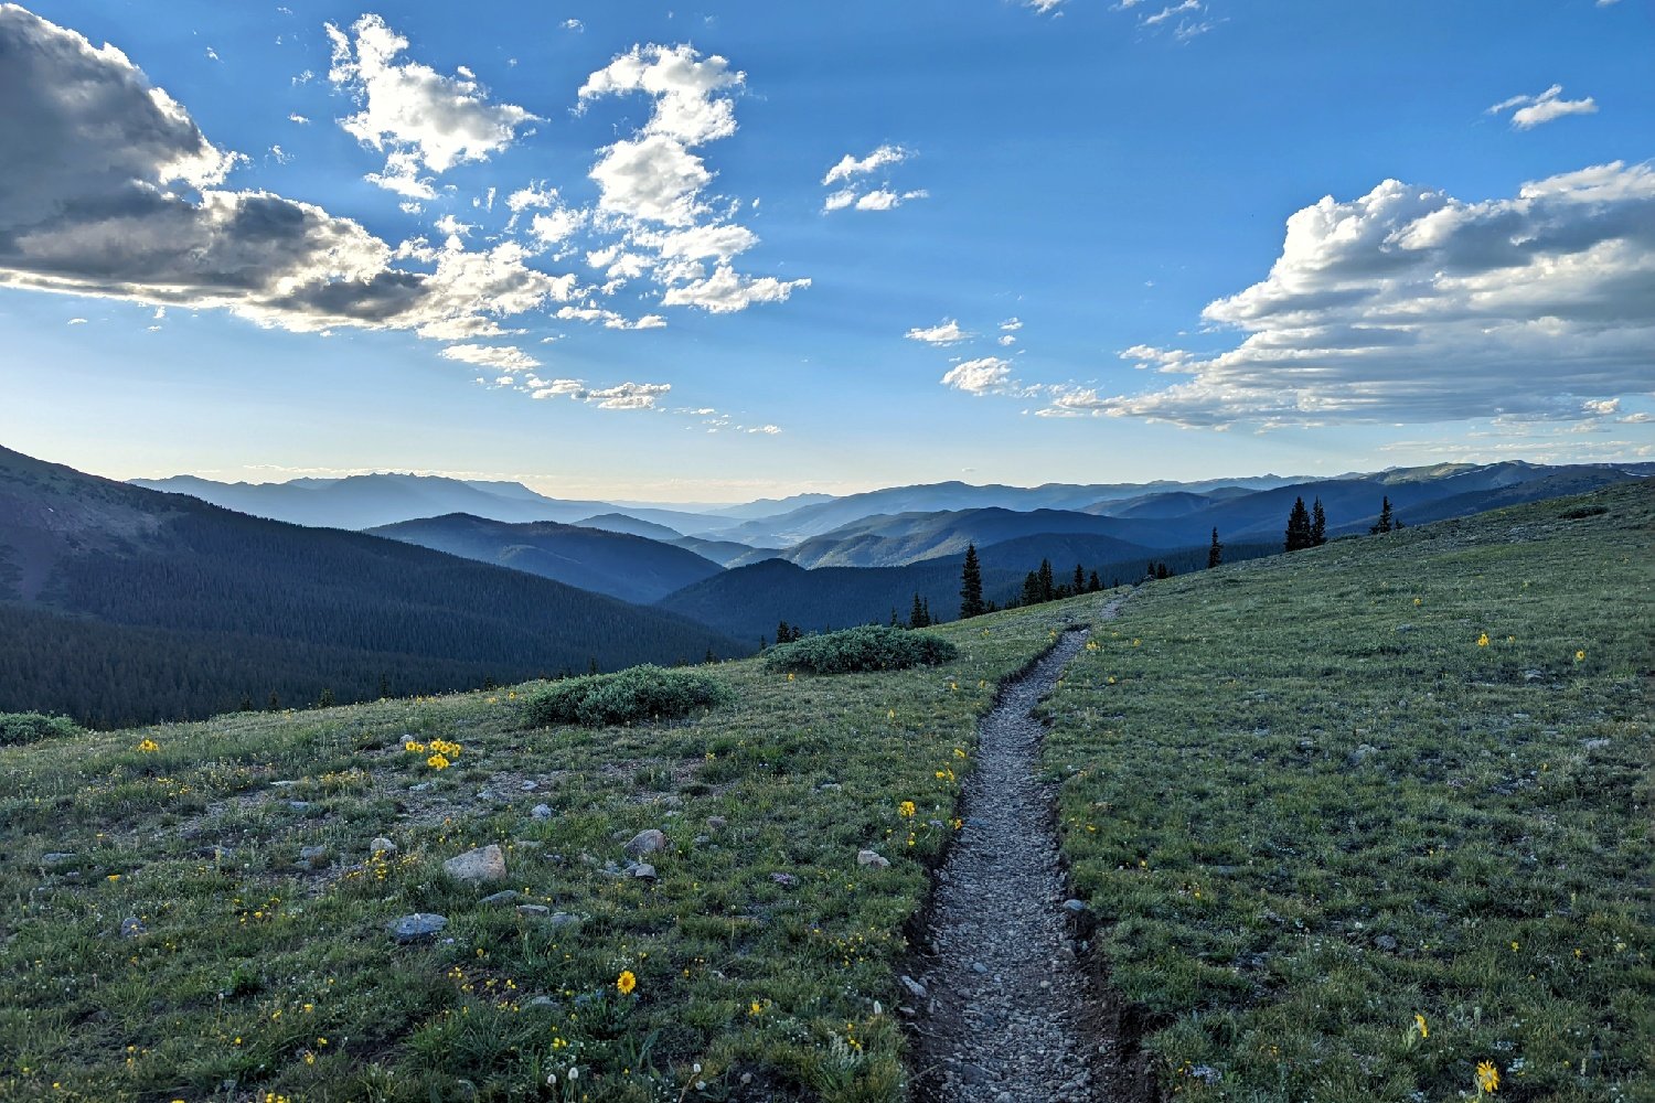
<instances>
[{"instance_id":1,"label":"green alpine meadow on both sides of the gravel trail","mask_svg":"<svg viewBox=\"0 0 1655 1103\"><path fill-rule=\"evenodd\" d=\"M1044 761L1167 1093L1655 1091L1652 519L1334 541L1096 625ZM657 671L728 688L679 719L536 726L530 683L0 747L0 1098L900 1100L975 719L1109 595L897 632L935 665Z\"/></svg>"}]
</instances>

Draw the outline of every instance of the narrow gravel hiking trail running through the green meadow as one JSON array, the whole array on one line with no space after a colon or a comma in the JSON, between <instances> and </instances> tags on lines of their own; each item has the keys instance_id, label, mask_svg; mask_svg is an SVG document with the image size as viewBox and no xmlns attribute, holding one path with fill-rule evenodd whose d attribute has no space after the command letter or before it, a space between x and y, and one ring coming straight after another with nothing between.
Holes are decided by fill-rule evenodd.
<instances>
[{"instance_id":1,"label":"narrow gravel hiking trail running through the green meadow","mask_svg":"<svg viewBox=\"0 0 1655 1103\"><path fill-rule=\"evenodd\" d=\"M1099 618L1112 618L1122 600L1111 600ZM1101 1007L1087 999L1077 962L1082 948L1076 916L1064 908L1054 792L1038 777L1044 728L1031 716L1086 635L1064 632L978 723L965 827L937 873L927 953L909 986L919 1012L919 1100L1101 1098L1099 1067L1112 1047L1099 1034Z\"/></svg>"}]
</instances>

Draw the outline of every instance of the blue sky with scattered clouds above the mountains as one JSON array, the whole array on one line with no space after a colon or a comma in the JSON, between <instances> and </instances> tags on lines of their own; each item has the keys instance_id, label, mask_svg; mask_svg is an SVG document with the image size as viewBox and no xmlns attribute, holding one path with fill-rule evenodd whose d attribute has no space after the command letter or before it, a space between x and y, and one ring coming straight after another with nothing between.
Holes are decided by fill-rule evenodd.
<instances>
[{"instance_id":1,"label":"blue sky with scattered clouds above the mountains","mask_svg":"<svg viewBox=\"0 0 1655 1103\"><path fill-rule=\"evenodd\" d=\"M1655 458L1643 0L0 5L0 445L569 498Z\"/></svg>"}]
</instances>

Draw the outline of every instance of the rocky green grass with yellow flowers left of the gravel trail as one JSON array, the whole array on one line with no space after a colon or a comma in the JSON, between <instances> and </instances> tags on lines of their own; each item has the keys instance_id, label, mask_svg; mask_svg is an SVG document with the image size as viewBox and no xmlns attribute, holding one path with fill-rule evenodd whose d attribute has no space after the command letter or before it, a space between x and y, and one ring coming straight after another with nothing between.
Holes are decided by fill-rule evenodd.
<instances>
[{"instance_id":1,"label":"rocky green grass with yellow flowers left of the gravel trail","mask_svg":"<svg viewBox=\"0 0 1655 1103\"><path fill-rule=\"evenodd\" d=\"M1072 615L945 628L958 657L905 673L722 663L736 701L685 721L526 729L518 686L0 749L0 1098L900 1098L894 967L957 747ZM649 827L659 880L606 870ZM442 871L485 843L508 881ZM396 946L412 911L444 939Z\"/></svg>"}]
</instances>

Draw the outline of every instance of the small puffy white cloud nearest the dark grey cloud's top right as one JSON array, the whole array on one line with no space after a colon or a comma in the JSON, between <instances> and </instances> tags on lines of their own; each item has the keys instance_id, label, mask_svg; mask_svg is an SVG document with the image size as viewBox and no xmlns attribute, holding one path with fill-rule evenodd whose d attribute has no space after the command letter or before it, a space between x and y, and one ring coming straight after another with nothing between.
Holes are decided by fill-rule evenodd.
<instances>
[{"instance_id":1,"label":"small puffy white cloud nearest the dark grey cloud's top right","mask_svg":"<svg viewBox=\"0 0 1655 1103\"><path fill-rule=\"evenodd\" d=\"M399 61L407 38L377 15L364 15L351 33L326 25L333 43L328 79L356 94L362 109L339 121L351 136L386 154L384 172L367 180L410 198L432 198L422 170L442 174L467 160L487 160L536 121L515 104L492 104L475 74L460 66L442 76L419 61ZM354 35L354 38L353 38Z\"/></svg>"}]
</instances>

